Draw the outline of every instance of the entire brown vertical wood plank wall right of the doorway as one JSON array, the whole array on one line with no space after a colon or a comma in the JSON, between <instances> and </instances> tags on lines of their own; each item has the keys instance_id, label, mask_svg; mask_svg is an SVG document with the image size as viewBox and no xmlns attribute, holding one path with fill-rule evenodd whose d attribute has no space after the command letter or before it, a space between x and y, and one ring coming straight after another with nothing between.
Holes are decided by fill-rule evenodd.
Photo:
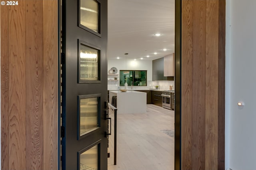
<instances>
[{"instance_id":1,"label":"entire brown vertical wood plank wall right of the doorway","mask_svg":"<svg viewBox=\"0 0 256 170\"><path fill-rule=\"evenodd\" d=\"M182 0L182 170L224 170L225 0Z\"/></svg>"}]
</instances>

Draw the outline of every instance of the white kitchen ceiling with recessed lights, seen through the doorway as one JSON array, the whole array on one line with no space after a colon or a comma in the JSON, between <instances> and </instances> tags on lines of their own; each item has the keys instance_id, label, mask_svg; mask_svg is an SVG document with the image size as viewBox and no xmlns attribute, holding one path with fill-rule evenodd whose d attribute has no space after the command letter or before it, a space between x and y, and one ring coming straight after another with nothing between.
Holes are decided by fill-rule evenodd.
<instances>
[{"instance_id":1,"label":"white kitchen ceiling with recessed lights, seen through the doorway","mask_svg":"<svg viewBox=\"0 0 256 170\"><path fill-rule=\"evenodd\" d=\"M174 9L174 0L108 0L108 59L154 60L174 53Z\"/></svg>"}]
</instances>

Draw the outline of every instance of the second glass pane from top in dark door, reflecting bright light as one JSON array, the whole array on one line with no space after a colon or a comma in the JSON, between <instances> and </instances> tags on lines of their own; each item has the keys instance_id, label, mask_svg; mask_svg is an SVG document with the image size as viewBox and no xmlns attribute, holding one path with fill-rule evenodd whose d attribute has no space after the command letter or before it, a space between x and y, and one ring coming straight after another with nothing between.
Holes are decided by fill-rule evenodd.
<instances>
[{"instance_id":1,"label":"second glass pane from top in dark door, reflecting bright light","mask_svg":"<svg viewBox=\"0 0 256 170\"><path fill-rule=\"evenodd\" d=\"M80 80L99 80L99 50L80 44Z\"/></svg>"}]
</instances>

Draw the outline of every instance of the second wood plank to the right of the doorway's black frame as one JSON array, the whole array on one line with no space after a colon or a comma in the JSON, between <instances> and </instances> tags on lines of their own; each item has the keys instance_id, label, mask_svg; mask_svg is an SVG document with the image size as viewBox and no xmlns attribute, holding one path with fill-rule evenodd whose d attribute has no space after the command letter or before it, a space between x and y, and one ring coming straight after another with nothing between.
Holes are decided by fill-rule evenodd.
<instances>
[{"instance_id":1,"label":"second wood plank to the right of the doorway's black frame","mask_svg":"<svg viewBox=\"0 0 256 170\"><path fill-rule=\"evenodd\" d=\"M205 43L206 2L196 0L193 6L193 70L192 70L192 165L205 169ZM196 47L194 47L196 45Z\"/></svg>"}]
</instances>

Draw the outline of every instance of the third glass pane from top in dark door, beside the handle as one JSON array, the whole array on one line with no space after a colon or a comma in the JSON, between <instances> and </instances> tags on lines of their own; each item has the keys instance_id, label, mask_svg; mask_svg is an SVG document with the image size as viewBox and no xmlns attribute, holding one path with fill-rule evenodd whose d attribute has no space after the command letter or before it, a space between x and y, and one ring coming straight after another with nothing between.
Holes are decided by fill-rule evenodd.
<instances>
[{"instance_id":1,"label":"third glass pane from top in dark door, beside the handle","mask_svg":"<svg viewBox=\"0 0 256 170\"><path fill-rule=\"evenodd\" d=\"M80 99L80 136L98 127L98 98Z\"/></svg>"}]
</instances>

